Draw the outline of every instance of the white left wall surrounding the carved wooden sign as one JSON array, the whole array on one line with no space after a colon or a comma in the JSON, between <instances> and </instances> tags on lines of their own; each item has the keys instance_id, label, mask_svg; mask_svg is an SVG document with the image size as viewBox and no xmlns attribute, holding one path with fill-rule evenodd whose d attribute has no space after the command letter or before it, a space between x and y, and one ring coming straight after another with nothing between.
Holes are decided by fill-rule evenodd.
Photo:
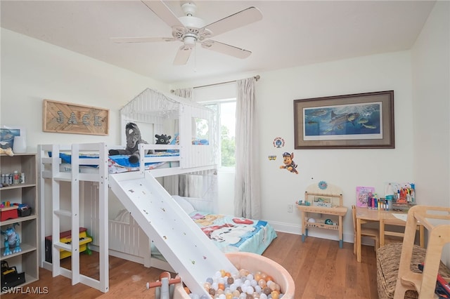
<instances>
[{"instance_id":1,"label":"white left wall surrounding the carved wooden sign","mask_svg":"<svg viewBox=\"0 0 450 299\"><path fill-rule=\"evenodd\" d=\"M1 29L0 124L25 128L29 152L51 143L119 145L124 133L119 109L148 87L167 91L165 84L148 77ZM110 109L110 134L44 133L44 99Z\"/></svg>"}]
</instances>

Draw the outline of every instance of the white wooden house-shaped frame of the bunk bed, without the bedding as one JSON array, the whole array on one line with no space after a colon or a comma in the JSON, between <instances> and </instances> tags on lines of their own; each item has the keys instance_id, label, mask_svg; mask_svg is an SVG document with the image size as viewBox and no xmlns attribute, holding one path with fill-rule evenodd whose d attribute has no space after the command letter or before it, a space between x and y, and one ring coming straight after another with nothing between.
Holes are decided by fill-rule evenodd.
<instances>
[{"instance_id":1,"label":"white wooden house-shaped frame of the bunk bed, without the bedding","mask_svg":"<svg viewBox=\"0 0 450 299\"><path fill-rule=\"evenodd\" d=\"M176 131L163 131L167 128L167 119L176 119L172 126ZM209 145L193 145L193 119L206 119L210 126ZM165 177L181 173L211 171L217 168L214 140L214 112L212 110L174 95L165 95L146 89L121 109L122 127L128 122L150 124L153 133L179 133L179 145L140 145L141 159L139 171L121 173L130 178L142 178L145 175L145 163L172 161L178 166L150 170L155 177ZM170 127L169 126L169 127ZM176 128L179 128L177 130ZM142 131L142 129L141 129ZM122 134L125 135L124 133ZM124 144L124 140L122 141ZM113 148L113 147L111 147ZM114 147L117 148L117 147ZM146 157L148 150L179 150L178 157ZM51 157L49 157L51 152ZM60 152L72 155L72 171L60 171ZM94 153L99 159L79 159L79 153ZM108 254L115 255L146 267L158 267L163 270L172 268L161 260L151 258L150 241L139 225L130 217L130 222L110 220L108 217L108 146L105 143L68 145L39 145L39 202L41 211L41 260L40 265L53 272L53 276L63 275L97 288L102 292L109 290ZM80 173L82 165L98 166L98 173ZM69 182L70 186L63 186ZM172 184L173 185L173 184ZM62 192L68 188L69 192ZM170 190L168 190L170 192ZM67 196L70 194L70 196ZM172 193L177 194L177 193ZM68 197L68 198L65 198ZM211 203L210 203L211 205ZM46 219L52 219L52 223ZM80 274L79 240L72 244L54 242L53 263L45 260L45 237L50 234L59 236L64 230L78 231L78 227L87 227L94 241L91 248L100 253L100 279L92 279ZM108 233L109 232L109 233ZM59 237L53 238L58 240ZM60 249L72 252L72 270L60 267Z\"/></svg>"}]
</instances>

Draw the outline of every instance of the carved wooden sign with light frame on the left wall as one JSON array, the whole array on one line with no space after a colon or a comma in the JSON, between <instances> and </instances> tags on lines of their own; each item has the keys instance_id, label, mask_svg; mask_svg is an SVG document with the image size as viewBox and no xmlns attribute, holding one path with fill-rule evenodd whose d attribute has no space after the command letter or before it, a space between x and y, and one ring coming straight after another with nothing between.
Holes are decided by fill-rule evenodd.
<instances>
[{"instance_id":1,"label":"carved wooden sign with light frame on the left wall","mask_svg":"<svg viewBox=\"0 0 450 299\"><path fill-rule=\"evenodd\" d=\"M110 110L44 100L42 131L108 135Z\"/></svg>"}]
</instances>

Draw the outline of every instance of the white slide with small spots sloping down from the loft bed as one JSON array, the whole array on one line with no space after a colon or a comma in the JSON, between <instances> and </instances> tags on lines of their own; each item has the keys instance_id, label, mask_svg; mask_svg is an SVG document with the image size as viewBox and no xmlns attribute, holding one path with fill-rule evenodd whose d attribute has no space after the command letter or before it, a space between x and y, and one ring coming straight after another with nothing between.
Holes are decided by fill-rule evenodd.
<instances>
[{"instance_id":1,"label":"white slide with small spots sloping down from the loft bed","mask_svg":"<svg viewBox=\"0 0 450 299\"><path fill-rule=\"evenodd\" d=\"M109 178L111 190L191 292L208 295L207 277L219 270L238 272L149 171L145 178L139 171Z\"/></svg>"}]
</instances>

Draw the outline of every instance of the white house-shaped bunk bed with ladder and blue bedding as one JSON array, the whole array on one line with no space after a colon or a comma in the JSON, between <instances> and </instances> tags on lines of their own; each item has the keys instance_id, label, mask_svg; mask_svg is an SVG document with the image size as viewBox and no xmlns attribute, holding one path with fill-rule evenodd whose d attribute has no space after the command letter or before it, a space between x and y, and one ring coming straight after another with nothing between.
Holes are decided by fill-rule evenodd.
<instances>
[{"instance_id":1,"label":"white house-shaped bunk bed with ladder and blue bedding","mask_svg":"<svg viewBox=\"0 0 450 299\"><path fill-rule=\"evenodd\" d=\"M108 150L117 146L108 147L103 142L38 147L41 267L53 271L54 276L62 274L71 278L72 284L82 282L103 292L108 291L108 254L143 263L146 267L172 269L158 254L153 254L158 253L153 240L148 238L148 232L144 233L133 217L128 215L127 219L115 219L121 207L117 203L108 204L114 201L114 197L110 196L111 190L108 190L110 176L133 180L150 173L165 186L167 192L174 195L186 195L180 192L180 175L202 177L205 185L214 185L217 176L217 136L214 134L215 117L211 109L147 88L120 109L120 117L122 128L129 122L138 124L143 139L148 142L152 142L155 134L162 133L174 136L174 140L168 145L139 145L139 163L124 166L120 160L127 160L126 157L108 156ZM122 133L122 138L124 135ZM120 147L124 148L124 145L125 139ZM149 151L155 154L146 154ZM70 191L65 192L66 189ZM212 191L200 200L184 199L186 202L191 200L195 211L210 213L217 206L216 193ZM195 206L195 201L196 204L201 202L200 206ZM73 244L56 242L53 248L45 248L44 237L58 235L64 230L77 231L79 227L88 227L93 239L91 248L100 253L100 279L84 277L80 273L77 238ZM255 230L259 232L255 236L263 240L262 246L255 252L262 253L276 234L266 223ZM238 247L225 247L223 251L227 248L229 251L240 250ZM53 263L46 262L46 250L52 251ZM72 251L71 270L60 267L60 250Z\"/></svg>"}]
</instances>

